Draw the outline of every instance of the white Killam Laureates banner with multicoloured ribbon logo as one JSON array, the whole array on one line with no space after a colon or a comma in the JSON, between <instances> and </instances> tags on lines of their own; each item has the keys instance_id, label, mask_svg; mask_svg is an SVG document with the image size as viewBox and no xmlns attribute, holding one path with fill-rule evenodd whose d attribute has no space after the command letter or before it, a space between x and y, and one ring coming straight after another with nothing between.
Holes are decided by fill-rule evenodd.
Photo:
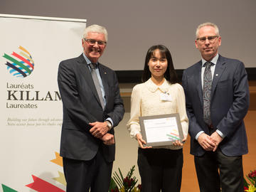
<instances>
[{"instance_id":1,"label":"white Killam Laureates banner with multicoloured ribbon logo","mask_svg":"<svg viewBox=\"0 0 256 192\"><path fill-rule=\"evenodd\" d=\"M82 53L85 25L0 15L0 191L65 191L57 72L61 60Z\"/></svg>"}]
</instances>

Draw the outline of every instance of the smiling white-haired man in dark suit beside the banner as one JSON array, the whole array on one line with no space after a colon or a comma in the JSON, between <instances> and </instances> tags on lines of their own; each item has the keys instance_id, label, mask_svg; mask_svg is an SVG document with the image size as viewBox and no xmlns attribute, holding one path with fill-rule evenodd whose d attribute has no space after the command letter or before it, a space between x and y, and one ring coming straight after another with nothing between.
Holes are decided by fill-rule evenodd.
<instances>
[{"instance_id":1,"label":"smiling white-haired man in dark suit beside the banner","mask_svg":"<svg viewBox=\"0 0 256 192\"><path fill-rule=\"evenodd\" d=\"M114 129L124 105L117 76L98 63L107 30L92 25L82 38L84 53L63 60L58 86L63 100L60 156L69 192L107 192L114 161Z\"/></svg>"}]
</instances>

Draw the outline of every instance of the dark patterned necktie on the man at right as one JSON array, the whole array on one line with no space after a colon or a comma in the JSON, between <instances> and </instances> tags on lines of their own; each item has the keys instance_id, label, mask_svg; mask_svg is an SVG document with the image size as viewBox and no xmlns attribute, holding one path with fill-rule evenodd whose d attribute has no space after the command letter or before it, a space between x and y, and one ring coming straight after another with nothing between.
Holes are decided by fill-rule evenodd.
<instances>
[{"instance_id":1,"label":"dark patterned necktie on the man at right","mask_svg":"<svg viewBox=\"0 0 256 192\"><path fill-rule=\"evenodd\" d=\"M210 125L210 92L212 87L212 73L210 70L210 66L213 63L206 62L203 64L203 67L206 66L206 69L203 73L203 120L206 124Z\"/></svg>"}]
</instances>

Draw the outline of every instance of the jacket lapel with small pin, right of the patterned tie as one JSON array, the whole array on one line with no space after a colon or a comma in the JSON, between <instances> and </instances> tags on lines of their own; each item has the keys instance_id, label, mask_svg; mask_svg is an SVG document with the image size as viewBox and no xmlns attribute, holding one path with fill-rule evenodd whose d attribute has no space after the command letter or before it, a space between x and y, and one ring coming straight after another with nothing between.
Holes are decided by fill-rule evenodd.
<instances>
[{"instance_id":1,"label":"jacket lapel with small pin, right of the patterned tie","mask_svg":"<svg viewBox=\"0 0 256 192\"><path fill-rule=\"evenodd\" d=\"M211 98L213 98L216 86L224 70L225 70L225 60L221 55L219 55L218 61L215 66L214 75L213 75L212 90L211 90L211 96L210 96Z\"/></svg>"}]
</instances>

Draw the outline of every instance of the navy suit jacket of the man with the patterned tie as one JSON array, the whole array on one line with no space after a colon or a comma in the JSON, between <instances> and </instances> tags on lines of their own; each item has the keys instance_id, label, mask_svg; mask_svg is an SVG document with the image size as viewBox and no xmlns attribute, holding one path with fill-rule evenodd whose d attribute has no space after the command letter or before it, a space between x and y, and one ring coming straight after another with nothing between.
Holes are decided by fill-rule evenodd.
<instances>
[{"instance_id":1,"label":"navy suit jacket of the man with the patterned tie","mask_svg":"<svg viewBox=\"0 0 256 192\"><path fill-rule=\"evenodd\" d=\"M200 131L209 134L203 121L202 62L184 70L182 84L186 95L186 110L191 135L191 154L205 153L195 137ZM213 129L219 129L225 138L218 146L227 156L247 154L247 136L243 118L249 107L249 86L245 66L239 60L219 55L213 76L210 118Z\"/></svg>"}]
</instances>

